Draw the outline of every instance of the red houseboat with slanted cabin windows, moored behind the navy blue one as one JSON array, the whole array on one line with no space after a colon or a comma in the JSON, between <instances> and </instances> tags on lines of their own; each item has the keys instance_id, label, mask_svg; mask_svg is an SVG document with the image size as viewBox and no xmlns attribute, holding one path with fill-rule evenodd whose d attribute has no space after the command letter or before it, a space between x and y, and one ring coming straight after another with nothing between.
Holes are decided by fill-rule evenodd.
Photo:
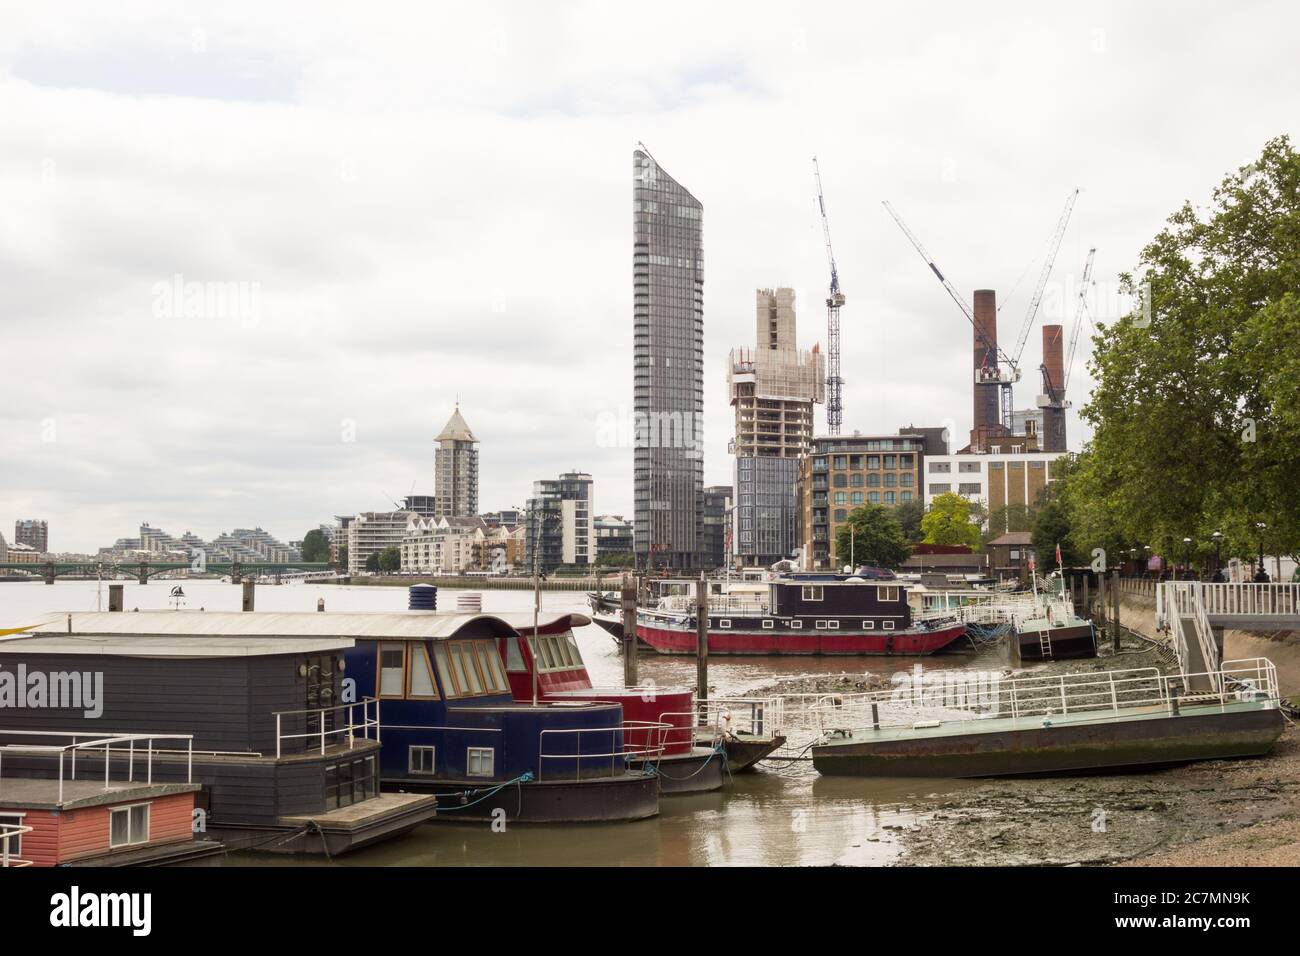
<instances>
[{"instance_id":1,"label":"red houseboat with slanted cabin windows, moored behind the navy blue one","mask_svg":"<svg viewBox=\"0 0 1300 956\"><path fill-rule=\"evenodd\" d=\"M784 737L741 740L716 722L699 726L696 695L689 688L593 687L573 636L575 627L589 623L586 615L563 615L540 624L536 633L530 626L520 626L523 640L500 641L516 701L618 704L629 722L629 745L644 754L633 757L630 766L653 774L663 793L718 790L728 770L749 767L784 743Z\"/></svg>"}]
</instances>

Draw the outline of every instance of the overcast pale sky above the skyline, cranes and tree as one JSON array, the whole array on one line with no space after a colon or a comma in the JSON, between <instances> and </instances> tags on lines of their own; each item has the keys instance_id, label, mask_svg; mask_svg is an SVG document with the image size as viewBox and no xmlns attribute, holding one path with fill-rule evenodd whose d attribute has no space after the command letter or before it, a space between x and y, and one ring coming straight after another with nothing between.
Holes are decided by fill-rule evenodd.
<instances>
[{"instance_id":1,"label":"overcast pale sky above the skyline, cranes and tree","mask_svg":"<svg viewBox=\"0 0 1300 956\"><path fill-rule=\"evenodd\" d=\"M637 140L705 208L708 484L731 481L724 359L753 345L754 289L793 286L824 347L814 155L845 429L965 436L970 326L883 199L963 295L998 291L1013 351L1082 187L1026 407L1088 248L1113 313L1164 219L1300 121L1291 3L183 7L0 14L6 538L17 518L55 550L140 522L298 538L432 494L458 397L485 510L577 468L629 514L608 425L630 415ZM178 281L243 298L195 313Z\"/></svg>"}]
</instances>

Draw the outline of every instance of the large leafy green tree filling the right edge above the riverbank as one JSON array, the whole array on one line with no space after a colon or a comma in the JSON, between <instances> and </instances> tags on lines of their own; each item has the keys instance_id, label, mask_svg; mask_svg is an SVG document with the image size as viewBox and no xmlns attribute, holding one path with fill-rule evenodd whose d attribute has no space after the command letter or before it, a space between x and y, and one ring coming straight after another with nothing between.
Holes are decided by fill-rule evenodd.
<instances>
[{"instance_id":1,"label":"large leafy green tree filling the right edge above the riverbank","mask_svg":"<svg viewBox=\"0 0 1300 956\"><path fill-rule=\"evenodd\" d=\"M1098 324L1089 460L1062 498L1079 545L1180 561L1300 551L1300 155L1280 137L1210 202L1184 203ZM1080 492L1074 496L1074 490ZM1088 501L1083 494L1096 496ZM1079 509L1074 514L1074 509Z\"/></svg>"}]
</instances>

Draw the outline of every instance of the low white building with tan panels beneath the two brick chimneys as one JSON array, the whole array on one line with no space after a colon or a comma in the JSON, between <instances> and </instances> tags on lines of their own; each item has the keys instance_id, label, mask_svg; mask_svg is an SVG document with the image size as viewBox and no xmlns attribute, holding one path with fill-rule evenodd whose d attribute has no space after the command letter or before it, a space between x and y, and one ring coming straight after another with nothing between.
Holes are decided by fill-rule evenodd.
<instances>
[{"instance_id":1,"label":"low white building with tan panels beneath the two brick chimneys","mask_svg":"<svg viewBox=\"0 0 1300 956\"><path fill-rule=\"evenodd\" d=\"M926 507L945 492L978 501L991 515L1008 505L1035 507L1066 454L1035 451L1026 446L1024 436L1011 436L992 440L984 454L927 458Z\"/></svg>"}]
</instances>

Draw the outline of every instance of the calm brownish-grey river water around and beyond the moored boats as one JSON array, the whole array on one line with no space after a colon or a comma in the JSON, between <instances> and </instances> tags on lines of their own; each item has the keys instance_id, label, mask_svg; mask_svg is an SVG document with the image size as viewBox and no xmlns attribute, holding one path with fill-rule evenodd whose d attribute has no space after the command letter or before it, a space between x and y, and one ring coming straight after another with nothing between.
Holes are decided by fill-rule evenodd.
<instances>
[{"instance_id":1,"label":"calm brownish-grey river water around and beyond the moored boats","mask_svg":"<svg viewBox=\"0 0 1300 956\"><path fill-rule=\"evenodd\" d=\"M178 581L126 584L125 607L169 607ZM239 610L240 589L218 581L179 581L185 607ZM36 615L96 609L95 581L0 583L0 628L30 624ZM257 610L406 610L404 588L286 584L257 588ZM456 592L439 593L441 607L455 607ZM103 589L108 606L108 585ZM530 611L532 592L485 591L484 611ZM580 592L543 592L546 611L585 611ZM580 628L578 646L597 684L620 684L623 665L610 636L595 626ZM861 675L910 670L911 658L714 658L708 676L715 696L740 695L781 676ZM926 658L926 667L961 667L959 656ZM641 658L641 679L659 687L693 685L694 659ZM603 866L603 865L880 865L897 858L897 834L924 825L928 805L965 784L956 780L857 780L820 778L811 763L770 765L740 774L716 793L660 801L658 817L636 823L512 826L493 832L486 823L439 821L404 838L335 861L342 866ZM239 853L226 865L302 866L313 860Z\"/></svg>"}]
</instances>

